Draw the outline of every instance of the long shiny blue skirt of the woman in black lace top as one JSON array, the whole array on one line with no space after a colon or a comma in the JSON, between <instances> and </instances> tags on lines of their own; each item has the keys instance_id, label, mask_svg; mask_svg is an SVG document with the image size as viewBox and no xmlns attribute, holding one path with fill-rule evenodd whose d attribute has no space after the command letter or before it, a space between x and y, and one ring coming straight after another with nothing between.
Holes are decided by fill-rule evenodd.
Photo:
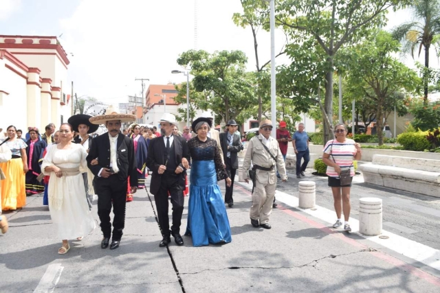
<instances>
[{"instance_id":1,"label":"long shiny blue skirt of the woman in black lace top","mask_svg":"<svg viewBox=\"0 0 440 293\"><path fill-rule=\"evenodd\" d=\"M193 246L232 241L214 161L192 161L185 235L192 236Z\"/></svg>"}]
</instances>

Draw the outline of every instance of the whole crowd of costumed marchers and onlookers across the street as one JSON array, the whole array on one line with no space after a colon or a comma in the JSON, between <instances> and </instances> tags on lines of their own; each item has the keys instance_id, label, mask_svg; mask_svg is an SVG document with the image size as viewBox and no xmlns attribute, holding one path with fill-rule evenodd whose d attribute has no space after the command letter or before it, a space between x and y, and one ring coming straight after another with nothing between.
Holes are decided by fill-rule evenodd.
<instances>
[{"instance_id":1,"label":"whole crowd of costumed marchers and onlookers across the street","mask_svg":"<svg viewBox=\"0 0 440 293\"><path fill-rule=\"evenodd\" d=\"M96 194L103 236L100 246L103 249L110 246L113 250L120 246L122 239L126 202L133 200L137 189L145 187L149 170L152 176L149 191L155 198L162 232L159 246L168 246L170 236L182 246L180 226L190 168L185 235L192 238L193 246L231 242L225 206L234 206L238 153L243 150L236 121L228 121L226 131L219 133L213 128L212 115L203 113L191 127L186 126L179 132L175 116L165 113L157 121L160 132L138 124L121 130L122 123L133 120L134 115L116 113L110 106L104 115L74 115L57 131L50 124L40 135L38 128L30 127L26 141L21 138L21 130L9 126L7 137L0 140L1 209L21 209L27 195L44 192L43 204L49 206L58 238L62 240L58 253L65 254L70 249L69 239L80 241L94 230L91 210ZM107 133L92 137L102 124ZM256 228L272 228L270 215L276 206L276 177L287 180L288 143L292 141L296 153L298 178L305 176L309 162L309 137L304 125L299 124L293 136L284 121L279 126L274 139L270 136L272 121L263 119L259 123L259 134L248 141L243 161L243 178L247 183L252 180L253 185L250 223ZM323 154L338 217L333 227L342 226L344 211L344 229L351 231L348 221L353 159L359 160L362 151L358 143L347 139L344 125L336 126L335 134L336 139L327 142ZM220 180L225 181L224 199L218 185ZM171 226L170 204L173 207ZM0 228L3 233L8 231L8 222L1 214Z\"/></svg>"}]
</instances>

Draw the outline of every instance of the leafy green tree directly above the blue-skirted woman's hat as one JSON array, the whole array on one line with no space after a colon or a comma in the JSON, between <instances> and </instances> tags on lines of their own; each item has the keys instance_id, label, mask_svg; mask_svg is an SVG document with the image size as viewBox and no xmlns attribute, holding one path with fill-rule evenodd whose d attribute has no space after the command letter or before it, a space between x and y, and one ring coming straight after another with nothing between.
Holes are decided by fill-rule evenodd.
<instances>
[{"instance_id":1,"label":"leafy green tree directly above the blue-skirted woman's hat","mask_svg":"<svg viewBox=\"0 0 440 293\"><path fill-rule=\"evenodd\" d=\"M181 54L177 64L191 68L195 91L212 92L206 101L208 108L228 121L239 117L249 105L256 104L256 78L254 73L245 71L247 61L242 51L209 54L203 50L189 50Z\"/></svg>"}]
</instances>

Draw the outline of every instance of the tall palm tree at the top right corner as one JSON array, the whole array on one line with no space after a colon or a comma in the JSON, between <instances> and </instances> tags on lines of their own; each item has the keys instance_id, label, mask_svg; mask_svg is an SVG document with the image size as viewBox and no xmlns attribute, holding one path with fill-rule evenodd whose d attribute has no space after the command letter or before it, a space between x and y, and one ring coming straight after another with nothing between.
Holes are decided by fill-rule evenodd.
<instances>
[{"instance_id":1,"label":"tall palm tree at the top right corner","mask_svg":"<svg viewBox=\"0 0 440 293\"><path fill-rule=\"evenodd\" d=\"M393 36L403 41L402 52L410 53L414 58L415 50L425 49L425 71L423 71L423 104L428 103L429 83L429 50L431 45L440 48L440 1L439 0L415 0L412 5L412 16L416 21L402 23L393 30ZM420 21L420 22L418 22Z\"/></svg>"}]
</instances>

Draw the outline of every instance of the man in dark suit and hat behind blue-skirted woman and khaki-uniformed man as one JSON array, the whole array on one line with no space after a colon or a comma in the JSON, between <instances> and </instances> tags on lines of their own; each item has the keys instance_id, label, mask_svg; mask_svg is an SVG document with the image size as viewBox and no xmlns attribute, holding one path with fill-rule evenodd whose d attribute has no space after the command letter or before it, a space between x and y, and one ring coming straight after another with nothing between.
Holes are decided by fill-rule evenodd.
<instances>
[{"instance_id":1,"label":"man in dark suit and hat behind blue-skirted woman and khaki-uniformed man","mask_svg":"<svg viewBox=\"0 0 440 293\"><path fill-rule=\"evenodd\" d=\"M234 178L236 169L239 169L237 154L243 150L243 144L241 143L240 135L236 134L238 125L235 120L229 120L226 126L228 127L228 131L220 133L220 144L221 150L223 151L223 158L225 159L225 169L226 172L228 172L229 178L232 180L229 187L226 185L225 203L228 204L228 207L232 207L234 205L234 199L232 198Z\"/></svg>"}]
</instances>

